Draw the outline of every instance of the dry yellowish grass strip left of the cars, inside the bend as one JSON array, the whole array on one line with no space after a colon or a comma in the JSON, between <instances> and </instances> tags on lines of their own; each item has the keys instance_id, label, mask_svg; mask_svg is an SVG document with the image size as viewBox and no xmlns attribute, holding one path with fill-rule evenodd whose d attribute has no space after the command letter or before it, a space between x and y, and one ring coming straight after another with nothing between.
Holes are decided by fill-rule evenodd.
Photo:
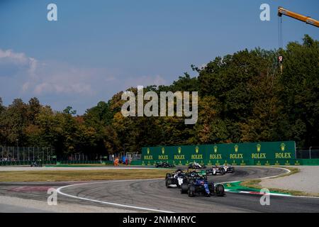
<instances>
[{"instance_id":1,"label":"dry yellowish grass strip left of the cars, inside the bend","mask_svg":"<svg viewBox=\"0 0 319 227\"><path fill-rule=\"evenodd\" d=\"M0 182L67 182L107 179L164 178L170 170L44 170L3 171Z\"/></svg>"}]
</instances>

